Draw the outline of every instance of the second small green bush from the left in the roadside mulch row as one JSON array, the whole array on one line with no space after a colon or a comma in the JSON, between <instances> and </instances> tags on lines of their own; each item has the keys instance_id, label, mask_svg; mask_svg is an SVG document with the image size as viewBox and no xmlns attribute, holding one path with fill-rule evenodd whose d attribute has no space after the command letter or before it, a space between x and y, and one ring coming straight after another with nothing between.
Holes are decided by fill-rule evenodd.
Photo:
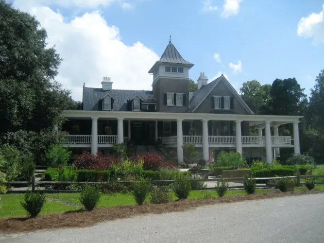
<instances>
[{"instance_id":1,"label":"second small green bush from the left in the roadside mulch row","mask_svg":"<svg viewBox=\"0 0 324 243\"><path fill-rule=\"evenodd\" d=\"M86 210L93 210L100 201L100 191L96 186L89 186L85 183L84 189L80 193L80 202Z\"/></svg>"}]
</instances>

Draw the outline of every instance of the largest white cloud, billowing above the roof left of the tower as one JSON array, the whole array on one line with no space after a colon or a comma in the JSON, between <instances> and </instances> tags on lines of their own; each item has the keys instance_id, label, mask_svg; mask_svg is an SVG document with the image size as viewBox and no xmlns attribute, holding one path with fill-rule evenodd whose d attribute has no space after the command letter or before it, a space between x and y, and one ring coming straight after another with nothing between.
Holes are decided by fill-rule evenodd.
<instances>
[{"instance_id":1,"label":"largest white cloud, billowing above the roof left of the tower","mask_svg":"<svg viewBox=\"0 0 324 243\"><path fill-rule=\"evenodd\" d=\"M86 87L101 87L103 76L111 77L115 89L152 89L147 72L158 55L140 42L125 45L119 29L107 25L100 12L65 22L64 16L47 6L21 6L36 16L47 30L49 46L55 45L63 58L57 80L72 91L73 99L82 100L84 82Z\"/></svg>"}]
</instances>

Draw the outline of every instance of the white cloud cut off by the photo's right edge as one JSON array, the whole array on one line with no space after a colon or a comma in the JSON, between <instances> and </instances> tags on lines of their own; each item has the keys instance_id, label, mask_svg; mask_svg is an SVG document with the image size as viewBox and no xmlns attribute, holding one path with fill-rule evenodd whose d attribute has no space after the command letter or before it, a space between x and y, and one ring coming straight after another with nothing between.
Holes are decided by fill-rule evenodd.
<instances>
[{"instance_id":1,"label":"white cloud cut off by the photo's right edge","mask_svg":"<svg viewBox=\"0 0 324 243\"><path fill-rule=\"evenodd\" d=\"M299 20L297 34L304 38L313 37L313 44L324 43L324 4L319 14L312 13L308 17Z\"/></svg>"}]
</instances>

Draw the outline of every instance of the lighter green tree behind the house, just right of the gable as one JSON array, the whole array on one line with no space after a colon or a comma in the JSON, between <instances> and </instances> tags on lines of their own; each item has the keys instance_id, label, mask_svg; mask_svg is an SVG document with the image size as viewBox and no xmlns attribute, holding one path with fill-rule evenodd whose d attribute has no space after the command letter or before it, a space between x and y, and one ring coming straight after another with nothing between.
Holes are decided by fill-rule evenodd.
<instances>
[{"instance_id":1,"label":"lighter green tree behind the house, just right of the gable","mask_svg":"<svg viewBox=\"0 0 324 243\"><path fill-rule=\"evenodd\" d=\"M261 85L257 80L243 83L239 94L255 114L261 114L263 107L270 102L271 85Z\"/></svg>"}]
</instances>

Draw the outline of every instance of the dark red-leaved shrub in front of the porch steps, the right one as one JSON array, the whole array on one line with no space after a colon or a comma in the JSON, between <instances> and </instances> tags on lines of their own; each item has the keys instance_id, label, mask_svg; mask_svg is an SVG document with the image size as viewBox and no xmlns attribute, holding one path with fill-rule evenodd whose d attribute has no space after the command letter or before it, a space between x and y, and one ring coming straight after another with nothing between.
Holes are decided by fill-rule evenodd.
<instances>
[{"instance_id":1,"label":"dark red-leaved shrub in front of the porch steps, the right one","mask_svg":"<svg viewBox=\"0 0 324 243\"><path fill-rule=\"evenodd\" d=\"M164 157L155 153L144 153L143 155L134 155L130 158L132 161L143 160L143 169L150 171L158 171L160 168L172 169L173 166L170 162L164 161Z\"/></svg>"}]
</instances>

